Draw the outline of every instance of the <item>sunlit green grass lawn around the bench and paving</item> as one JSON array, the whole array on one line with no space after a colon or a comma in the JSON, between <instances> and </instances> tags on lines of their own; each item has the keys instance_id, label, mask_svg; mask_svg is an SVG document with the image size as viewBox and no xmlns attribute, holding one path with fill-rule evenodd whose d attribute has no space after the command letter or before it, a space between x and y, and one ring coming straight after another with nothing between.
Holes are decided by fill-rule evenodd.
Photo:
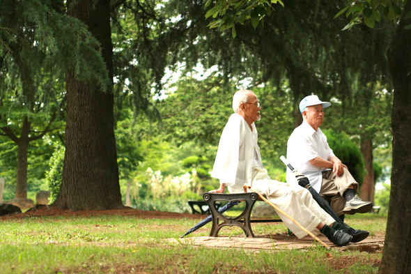
<instances>
[{"instance_id":1,"label":"sunlit green grass lawn around the bench and paving","mask_svg":"<svg viewBox=\"0 0 411 274\"><path fill-rule=\"evenodd\" d=\"M384 236L386 216L348 216L352 227ZM171 245L196 219L135 216L29 217L0 220L0 273L377 273L381 252L260 251ZM253 224L255 234L283 224ZM208 236L210 224L192 236ZM227 227L220 236L242 235Z\"/></svg>"}]
</instances>

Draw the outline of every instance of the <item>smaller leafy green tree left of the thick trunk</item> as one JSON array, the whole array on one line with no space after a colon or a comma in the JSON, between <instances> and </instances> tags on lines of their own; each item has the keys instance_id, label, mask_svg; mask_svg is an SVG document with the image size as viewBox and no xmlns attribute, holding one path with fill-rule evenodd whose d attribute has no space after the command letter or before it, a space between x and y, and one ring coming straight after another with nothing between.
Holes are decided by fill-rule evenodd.
<instances>
[{"instance_id":1,"label":"smaller leafy green tree left of the thick trunk","mask_svg":"<svg viewBox=\"0 0 411 274\"><path fill-rule=\"evenodd\" d=\"M54 121L65 107L59 71L40 44L46 39L42 28L49 27L43 21L47 8L56 14L60 6L1 2L0 135L17 146L17 199L27 198L29 143L59 130Z\"/></svg>"}]
</instances>

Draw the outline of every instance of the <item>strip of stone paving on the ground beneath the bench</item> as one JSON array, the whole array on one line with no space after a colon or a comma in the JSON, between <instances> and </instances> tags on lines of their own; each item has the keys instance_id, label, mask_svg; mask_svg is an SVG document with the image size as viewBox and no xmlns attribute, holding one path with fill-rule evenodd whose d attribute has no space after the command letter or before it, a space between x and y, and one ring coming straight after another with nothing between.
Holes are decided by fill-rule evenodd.
<instances>
[{"instance_id":1,"label":"strip of stone paving on the ground beneath the bench","mask_svg":"<svg viewBox=\"0 0 411 274\"><path fill-rule=\"evenodd\" d=\"M368 237L359 243L350 243L345 247L338 247L331 243L327 237L319 235L321 241L326 243L330 248L338 248L340 250L360 250L366 252L380 252L384 246L384 238ZM209 248L244 248L251 251L258 250L292 250L306 249L316 246L323 246L316 240L307 236L298 239L295 236L287 236L286 234L264 235L256 238L247 238L244 236L235 237L187 237L187 238L170 238L169 243L180 243L184 245L202 245Z\"/></svg>"}]
</instances>

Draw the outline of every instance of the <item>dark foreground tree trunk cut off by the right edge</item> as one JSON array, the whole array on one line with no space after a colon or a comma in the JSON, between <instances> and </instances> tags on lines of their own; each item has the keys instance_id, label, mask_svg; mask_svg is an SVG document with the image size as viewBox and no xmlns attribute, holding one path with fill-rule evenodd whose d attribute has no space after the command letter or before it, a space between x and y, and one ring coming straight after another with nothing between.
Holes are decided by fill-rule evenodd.
<instances>
[{"instance_id":1,"label":"dark foreground tree trunk cut off by the right edge","mask_svg":"<svg viewBox=\"0 0 411 274\"><path fill-rule=\"evenodd\" d=\"M389 70L394 84L391 116L393 131L391 194L385 246L379 273L411 273L411 1L389 51Z\"/></svg>"}]
</instances>

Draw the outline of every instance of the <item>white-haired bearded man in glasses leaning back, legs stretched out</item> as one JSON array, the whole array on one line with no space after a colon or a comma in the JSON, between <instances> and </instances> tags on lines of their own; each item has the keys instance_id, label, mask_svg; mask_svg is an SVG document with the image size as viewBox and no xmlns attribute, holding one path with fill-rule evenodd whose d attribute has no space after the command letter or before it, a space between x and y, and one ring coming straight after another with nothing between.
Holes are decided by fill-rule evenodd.
<instances>
[{"instance_id":1,"label":"white-haired bearded man in glasses leaning back, legs stretched out","mask_svg":"<svg viewBox=\"0 0 411 274\"><path fill-rule=\"evenodd\" d=\"M338 223L320 208L308 190L272 180L263 168L257 144L254 121L260 119L260 103L248 90L237 91L233 97L234 114L230 116L222 132L211 176L220 181L220 187L212 190L224 193L243 192L243 185L266 195L273 204L302 224L313 234L325 234L336 245L347 245L352 236L339 230ZM300 227L277 212L288 229L298 238L307 236ZM336 225L334 225L336 224Z\"/></svg>"}]
</instances>

